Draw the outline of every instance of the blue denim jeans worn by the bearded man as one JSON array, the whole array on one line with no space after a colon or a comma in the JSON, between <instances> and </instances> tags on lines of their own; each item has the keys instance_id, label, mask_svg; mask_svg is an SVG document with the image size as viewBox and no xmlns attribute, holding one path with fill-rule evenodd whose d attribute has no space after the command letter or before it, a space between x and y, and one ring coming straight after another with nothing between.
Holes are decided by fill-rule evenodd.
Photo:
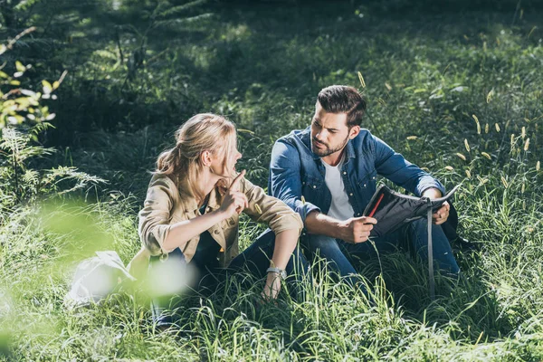
<instances>
[{"instance_id":1,"label":"blue denim jeans worn by the bearded man","mask_svg":"<svg viewBox=\"0 0 543 362\"><path fill-rule=\"evenodd\" d=\"M428 260L428 239L426 219L416 220L404 227L379 238L372 243L347 243L324 235L309 234L301 245L308 252L308 259L317 255L329 262L329 268L338 272L353 285L361 281L361 276L352 265L353 257L367 259L377 253L395 252L398 248L407 248L421 260ZM446 274L458 275L460 268L452 254L451 244L440 225L432 225L433 261ZM374 247L375 245L375 247Z\"/></svg>"}]
</instances>

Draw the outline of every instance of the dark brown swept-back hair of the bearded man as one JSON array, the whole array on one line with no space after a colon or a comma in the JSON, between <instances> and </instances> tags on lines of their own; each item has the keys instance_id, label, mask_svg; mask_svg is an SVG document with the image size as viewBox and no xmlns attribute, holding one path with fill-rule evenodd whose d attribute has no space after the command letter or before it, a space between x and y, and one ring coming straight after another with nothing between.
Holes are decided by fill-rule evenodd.
<instances>
[{"instance_id":1,"label":"dark brown swept-back hair of the bearded man","mask_svg":"<svg viewBox=\"0 0 543 362\"><path fill-rule=\"evenodd\" d=\"M329 113L347 113L348 127L360 126L366 100L358 90L346 85L330 85L319 91L320 106Z\"/></svg>"}]
</instances>

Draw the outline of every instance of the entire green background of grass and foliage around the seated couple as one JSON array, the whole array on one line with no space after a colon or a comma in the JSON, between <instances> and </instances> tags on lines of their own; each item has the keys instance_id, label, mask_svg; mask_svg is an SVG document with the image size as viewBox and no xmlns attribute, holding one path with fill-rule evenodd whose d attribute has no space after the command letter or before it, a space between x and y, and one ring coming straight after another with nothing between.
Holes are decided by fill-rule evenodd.
<instances>
[{"instance_id":1,"label":"entire green background of grass and foliage around the seated couple","mask_svg":"<svg viewBox=\"0 0 543 362\"><path fill-rule=\"evenodd\" d=\"M535 0L0 0L0 358L540 360L543 5ZM404 252L360 262L374 303L316 271L306 300L262 285L187 298L176 330L149 291L63 304L95 251L129 262L157 155L198 112L235 122L265 187L276 138L347 84L364 126L455 197L460 285ZM243 246L262 231L244 220ZM236 281L232 281L235 283Z\"/></svg>"}]
</instances>

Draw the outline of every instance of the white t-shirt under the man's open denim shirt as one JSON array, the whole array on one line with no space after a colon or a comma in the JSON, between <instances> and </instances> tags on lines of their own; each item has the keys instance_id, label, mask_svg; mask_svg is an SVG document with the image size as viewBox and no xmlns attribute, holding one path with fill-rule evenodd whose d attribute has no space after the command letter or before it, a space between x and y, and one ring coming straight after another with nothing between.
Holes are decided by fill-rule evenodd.
<instances>
[{"instance_id":1,"label":"white t-shirt under the man's open denim shirt","mask_svg":"<svg viewBox=\"0 0 543 362\"><path fill-rule=\"evenodd\" d=\"M348 218L353 217L355 214L353 206L351 206L348 202L348 195L345 191L343 178L341 178L341 166L343 165L344 160L345 155L337 166L330 166L324 162L322 158L320 159L326 168L324 182L332 194L332 203L330 204L328 215L340 221L347 220Z\"/></svg>"}]
</instances>

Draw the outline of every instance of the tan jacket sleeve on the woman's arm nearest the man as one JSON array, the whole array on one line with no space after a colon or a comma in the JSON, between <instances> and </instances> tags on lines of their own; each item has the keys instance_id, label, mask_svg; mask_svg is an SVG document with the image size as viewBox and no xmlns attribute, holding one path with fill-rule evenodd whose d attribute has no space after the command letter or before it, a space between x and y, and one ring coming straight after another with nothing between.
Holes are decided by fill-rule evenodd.
<instances>
[{"instance_id":1,"label":"tan jacket sleeve on the woman's arm nearest the man","mask_svg":"<svg viewBox=\"0 0 543 362\"><path fill-rule=\"evenodd\" d=\"M268 224L276 235L292 229L298 230L298 233L301 232L303 224L300 214L294 212L291 207L280 199L266 195L262 187L255 186L244 178L241 186L249 201L249 207L244 210L244 213L251 216L252 220Z\"/></svg>"}]
</instances>

